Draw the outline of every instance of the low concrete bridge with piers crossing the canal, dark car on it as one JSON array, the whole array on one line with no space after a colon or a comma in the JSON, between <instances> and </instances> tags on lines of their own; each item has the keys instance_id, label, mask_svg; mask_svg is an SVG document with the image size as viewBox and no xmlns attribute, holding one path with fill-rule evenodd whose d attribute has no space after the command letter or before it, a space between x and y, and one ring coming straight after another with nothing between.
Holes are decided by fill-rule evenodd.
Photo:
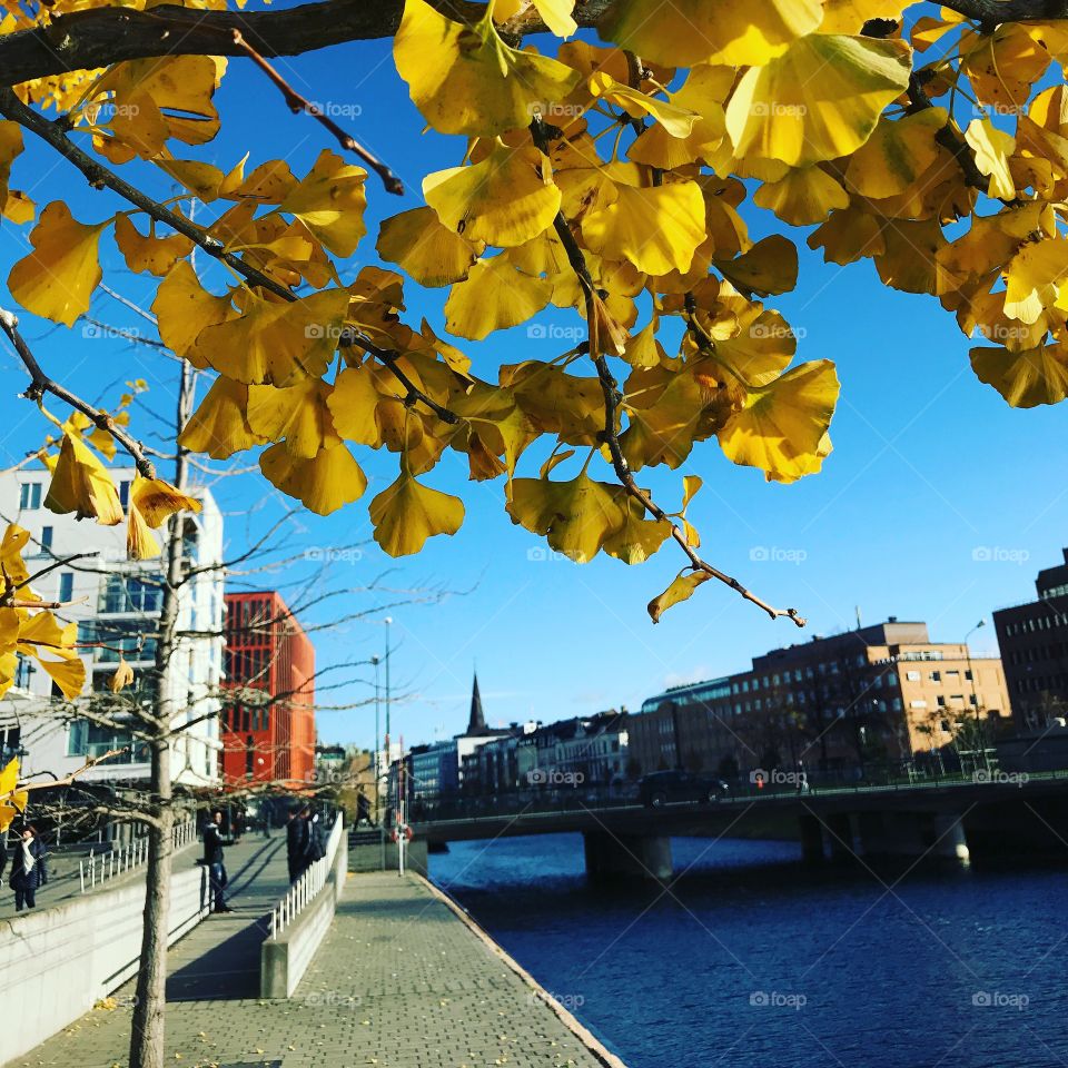
<instances>
[{"instance_id":1,"label":"low concrete bridge with piers crossing the canal, dark car on it","mask_svg":"<svg viewBox=\"0 0 1068 1068\"><path fill-rule=\"evenodd\" d=\"M981 778L981 777L977 777ZM413 822L409 859L472 839L578 832L592 878L672 874L671 839L794 838L802 856L906 856L1068 860L1068 772L987 781L939 779L888 785L748 791L708 803L645 808L632 800L572 792L461 802Z\"/></svg>"}]
</instances>

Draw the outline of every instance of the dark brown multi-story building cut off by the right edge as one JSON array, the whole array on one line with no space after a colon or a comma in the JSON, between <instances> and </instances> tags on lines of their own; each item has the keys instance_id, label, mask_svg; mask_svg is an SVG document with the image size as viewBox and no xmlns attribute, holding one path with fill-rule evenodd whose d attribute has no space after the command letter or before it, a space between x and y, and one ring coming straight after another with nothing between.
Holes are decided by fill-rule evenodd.
<instances>
[{"instance_id":1,"label":"dark brown multi-story building cut off by the right edge","mask_svg":"<svg viewBox=\"0 0 1068 1068\"><path fill-rule=\"evenodd\" d=\"M1038 597L993 613L1009 700L1020 730L1068 716L1068 548L1038 573Z\"/></svg>"}]
</instances>

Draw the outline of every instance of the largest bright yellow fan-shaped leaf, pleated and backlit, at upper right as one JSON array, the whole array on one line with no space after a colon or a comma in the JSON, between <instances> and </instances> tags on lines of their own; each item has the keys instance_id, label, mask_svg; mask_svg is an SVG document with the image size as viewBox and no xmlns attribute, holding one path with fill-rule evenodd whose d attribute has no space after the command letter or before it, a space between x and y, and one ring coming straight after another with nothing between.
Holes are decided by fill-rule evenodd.
<instances>
[{"instance_id":1,"label":"largest bright yellow fan-shaped leaf, pleated and backlit, at upper right","mask_svg":"<svg viewBox=\"0 0 1068 1068\"><path fill-rule=\"evenodd\" d=\"M909 71L909 50L899 41L802 37L742 76L726 106L734 152L791 167L848 156L904 91Z\"/></svg>"}]
</instances>

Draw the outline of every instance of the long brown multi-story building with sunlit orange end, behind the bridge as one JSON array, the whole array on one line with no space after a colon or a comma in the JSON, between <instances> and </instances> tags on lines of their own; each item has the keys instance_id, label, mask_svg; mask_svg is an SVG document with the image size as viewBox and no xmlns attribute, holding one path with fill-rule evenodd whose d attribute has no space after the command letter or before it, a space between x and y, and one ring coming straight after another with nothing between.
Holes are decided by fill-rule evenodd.
<instances>
[{"instance_id":1,"label":"long brown multi-story building with sunlit orange end, behind the bridge","mask_svg":"<svg viewBox=\"0 0 1068 1068\"><path fill-rule=\"evenodd\" d=\"M630 723L632 775L665 768L733 777L802 768L852 777L939 753L972 720L1008 714L997 656L931 642L926 623L886 623L772 650L752 669L676 686Z\"/></svg>"}]
</instances>

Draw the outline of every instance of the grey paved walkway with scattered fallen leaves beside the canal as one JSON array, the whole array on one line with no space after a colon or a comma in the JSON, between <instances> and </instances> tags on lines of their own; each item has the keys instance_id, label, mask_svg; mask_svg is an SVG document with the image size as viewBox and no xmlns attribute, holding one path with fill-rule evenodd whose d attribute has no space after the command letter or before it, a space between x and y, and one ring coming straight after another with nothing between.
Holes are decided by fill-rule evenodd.
<instances>
[{"instance_id":1,"label":"grey paved walkway with scattered fallen leaves beside the canal","mask_svg":"<svg viewBox=\"0 0 1068 1068\"><path fill-rule=\"evenodd\" d=\"M271 860L265 872L276 863ZM258 893L259 883L255 886ZM249 914L256 911L254 900L250 894ZM240 891L234 904L245 912ZM207 997L175 1000L168 1007L169 1064L184 1068L619 1064L592 1052L500 951L417 879L393 872L350 876L334 926L289 1001L260 1001L246 992L250 962L239 943L240 931L208 949L218 972L207 978L205 957L197 957L192 939L207 943L212 931L225 933L231 922L240 921L211 917L171 955L176 963L171 982L181 977L185 997ZM119 992L117 1009L93 1010L11 1065L122 1068L130 1009L121 996L131 991L129 987Z\"/></svg>"}]
</instances>

